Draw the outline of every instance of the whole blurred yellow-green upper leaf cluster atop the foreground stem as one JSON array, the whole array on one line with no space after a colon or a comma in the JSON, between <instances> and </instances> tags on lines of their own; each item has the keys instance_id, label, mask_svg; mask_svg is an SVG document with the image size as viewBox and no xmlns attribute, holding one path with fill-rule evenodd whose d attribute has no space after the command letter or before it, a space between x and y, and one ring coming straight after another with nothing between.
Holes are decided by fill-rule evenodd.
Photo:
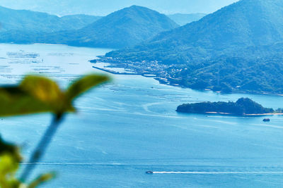
<instances>
[{"instance_id":1,"label":"whole blurred yellow-green upper leaf cluster atop the foreground stem","mask_svg":"<svg viewBox=\"0 0 283 188\"><path fill-rule=\"evenodd\" d=\"M63 92L56 82L47 77L29 75L18 86L0 87L0 116L74 112L72 100L108 80L103 75L87 75Z\"/></svg>"}]
</instances>

